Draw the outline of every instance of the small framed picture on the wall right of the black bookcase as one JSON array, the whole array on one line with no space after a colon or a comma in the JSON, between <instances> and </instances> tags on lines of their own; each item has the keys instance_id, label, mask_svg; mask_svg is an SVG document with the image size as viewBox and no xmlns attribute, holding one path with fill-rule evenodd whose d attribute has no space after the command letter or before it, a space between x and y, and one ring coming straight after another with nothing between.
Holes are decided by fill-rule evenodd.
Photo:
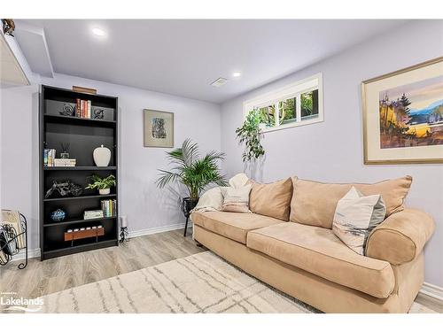
<instances>
[{"instance_id":1,"label":"small framed picture on the wall right of the black bookcase","mask_svg":"<svg viewBox=\"0 0 443 332\"><path fill-rule=\"evenodd\" d=\"M144 146L174 147L174 113L144 110Z\"/></svg>"}]
</instances>

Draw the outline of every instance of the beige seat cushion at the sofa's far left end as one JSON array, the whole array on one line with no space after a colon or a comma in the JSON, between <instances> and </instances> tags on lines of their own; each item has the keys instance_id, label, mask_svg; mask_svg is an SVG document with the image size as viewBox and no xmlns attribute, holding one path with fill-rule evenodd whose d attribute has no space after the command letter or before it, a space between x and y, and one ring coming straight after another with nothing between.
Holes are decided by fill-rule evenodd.
<instances>
[{"instance_id":1,"label":"beige seat cushion at the sofa's far left end","mask_svg":"<svg viewBox=\"0 0 443 332\"><path fill-rule=\"evenodd\" d=\"M202 228L244 244L250 230L283 222L260 214L238 212L193 212L190 220Z\"/></svg>"}]
</instances>

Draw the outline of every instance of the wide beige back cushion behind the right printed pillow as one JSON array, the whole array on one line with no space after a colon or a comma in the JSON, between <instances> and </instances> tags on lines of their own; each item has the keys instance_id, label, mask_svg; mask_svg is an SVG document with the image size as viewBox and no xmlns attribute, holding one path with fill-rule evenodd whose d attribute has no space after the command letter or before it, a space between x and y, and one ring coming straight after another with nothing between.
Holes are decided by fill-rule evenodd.
<instances>
[{"instance_id":1,"label":"wide beige back cushion behind the right printed pillow","mask_svg":"<svg viewBox=\"0 0 443 332\"><path fill-rule=\"evenodd\" d=\"M412 177L365 183L322 183L292 178L290 220L300 224L331 228L334 212L341 197L353 186L365 196L380 194L386 205L386 217L404 209Z\"/></svg>"}]
</instances>

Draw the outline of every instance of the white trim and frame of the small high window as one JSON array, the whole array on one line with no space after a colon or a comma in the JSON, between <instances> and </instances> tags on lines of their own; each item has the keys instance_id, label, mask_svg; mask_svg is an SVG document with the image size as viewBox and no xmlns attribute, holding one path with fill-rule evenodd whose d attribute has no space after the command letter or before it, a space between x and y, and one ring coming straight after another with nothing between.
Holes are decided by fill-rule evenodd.
<instances>
[{"instance_id":1,"label":"white trim and frame of the small high window","mask_svg":"<svg viewBox=\"0 0 443 332\"><path fill-rule=\"evenodd\" d=\"M310 81L318 81L318 117L311 120L301 120L301 103L300 103L300 95L312 90L312 85L307 85ZM300 127L306 125L312 125L313 123L323 122L323 73L316 73L313 76L307 77L306 79L295 81L289 85L284 86L280 89L275 89L260 95L259 97L255 97L253 99L246 100L243 103L243 112L244 117L247 116L247 113L253 109L254 107L260 106L268 106L269 104L277 104L278 101L283 99L288 99L291 97L297 97L298 103L296 104L296 121L291 123L286 123L283 125L278 124L278 119L276 120L276 126L274 127L266 127L261 129L262 133L269 133L276 130L287 129L291 127ZM278 116L276 112L276 117Z\"/></svg>"}]
</instances>

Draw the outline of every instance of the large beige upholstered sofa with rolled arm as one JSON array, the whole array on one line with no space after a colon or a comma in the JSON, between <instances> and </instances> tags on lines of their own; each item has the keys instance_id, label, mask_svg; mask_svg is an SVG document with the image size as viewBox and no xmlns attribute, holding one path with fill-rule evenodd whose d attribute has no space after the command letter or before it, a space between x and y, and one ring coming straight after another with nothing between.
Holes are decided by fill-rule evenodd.
<instances>
[{"instance_id":1,"label":"large beige upholstered sofa with rolled arm","mask_svg":"<svg viewBox=\"0 0 443 332\"><path fill-rule=\"evenodd\" d=\"M431 216L403 206L412 178L328 184L298 178L253 184L253 213L193 212L194 239L262 282L325 313L407 313L424 282ZM385 221L365 256L332 233L338 200L355 186L382 194Z\"/></svg>"}]
</instances>

